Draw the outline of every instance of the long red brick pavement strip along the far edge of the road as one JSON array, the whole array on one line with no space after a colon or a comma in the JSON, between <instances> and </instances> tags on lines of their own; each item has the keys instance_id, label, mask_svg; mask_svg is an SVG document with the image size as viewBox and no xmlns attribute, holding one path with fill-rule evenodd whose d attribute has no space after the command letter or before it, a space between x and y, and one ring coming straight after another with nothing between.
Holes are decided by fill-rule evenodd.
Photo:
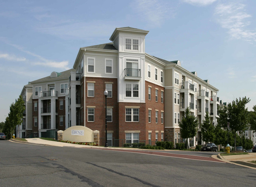
<instances>
[{"instance_id":1,"label":"long red brick pavement strip along the far edge of the road","mask_svg":"<svg viewBox=\"0 0 256 187\"><path fill-rule=\"evenodd\" d=\"M151 154L151 155L157 155L157 156L167 156L167 157L174 157L174 158L183 158L183 159L189 159L189 160L200 160L200 161L208 161L208 162L221 162L226 163L221 160L217 160L212 157L206 157L206 156L196 156L196 155L188 155L188 154L175 154L175 153L165 153L165 152L156 152L156 151L139 151L139 150L127 150L127 149L106 149L102 148L102 150L108 150L108 151L123 151L123 152L130 152L130 153L141 153L141 154Z\"/></svg>"}]
</instances>

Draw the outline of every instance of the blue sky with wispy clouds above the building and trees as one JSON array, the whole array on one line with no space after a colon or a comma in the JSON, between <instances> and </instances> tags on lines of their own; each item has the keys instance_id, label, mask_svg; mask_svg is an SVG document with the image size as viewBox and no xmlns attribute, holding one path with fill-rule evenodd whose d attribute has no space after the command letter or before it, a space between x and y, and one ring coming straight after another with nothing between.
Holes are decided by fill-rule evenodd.
<instances>
[{"instance_id":1,"label":"blue sky with wispy clouds above the building and trees","mask_svg":"<svg viewBox=\"0 0 256 187\"><path fill-rule=\"evenodd\" d=\"M0 122L28 82L73 67L80 47L116 27L149 31L146 53L180 60L223 102L256 105L256 1L0 0Z\"/></svg>"}]
</instances>

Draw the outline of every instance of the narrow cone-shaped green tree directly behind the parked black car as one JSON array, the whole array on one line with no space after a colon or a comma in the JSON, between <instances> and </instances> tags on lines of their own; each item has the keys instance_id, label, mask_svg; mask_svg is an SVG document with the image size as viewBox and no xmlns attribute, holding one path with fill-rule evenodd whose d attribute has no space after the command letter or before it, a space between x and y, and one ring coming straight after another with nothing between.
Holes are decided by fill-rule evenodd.
<instances>
[{"instance_id":1,"label":"narrow cone-shaped green tree directly behind the parked black car","mask_svg":"<svg viewBox=\"0 0 256 187\"><path fill-rule=\"evenodd\" d=\"M214 125L210 121L210 116L208 112L206 112L206 115L204 117L202 127L201 127L201 132L202 132L202 140L204 142L214 141L214 138L215 138Z\"/></svg>"}]
</instances>

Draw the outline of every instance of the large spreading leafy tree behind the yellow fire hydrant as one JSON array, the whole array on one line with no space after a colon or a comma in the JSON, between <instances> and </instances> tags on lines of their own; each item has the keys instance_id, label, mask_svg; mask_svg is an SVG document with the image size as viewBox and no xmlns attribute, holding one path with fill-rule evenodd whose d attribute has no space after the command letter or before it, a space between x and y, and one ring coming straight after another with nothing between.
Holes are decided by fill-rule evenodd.
<instances>
[{"instance_id":1,"label":"large spreading leafy tree behind the yellow fire hydrant","mask_svg":"<svg viewBox=\"0 0 256 187\"><path fill-rule=\"evenodd\" d=\"M234 134L234 146L236 147L236 132L243 132L247 129L249 122L248 109L245 105L249 103L249 98L239 98L228 103L227 106L219 107L219 123L226 127L229 122L230 131Z\"/></svg>"}]
</instances>

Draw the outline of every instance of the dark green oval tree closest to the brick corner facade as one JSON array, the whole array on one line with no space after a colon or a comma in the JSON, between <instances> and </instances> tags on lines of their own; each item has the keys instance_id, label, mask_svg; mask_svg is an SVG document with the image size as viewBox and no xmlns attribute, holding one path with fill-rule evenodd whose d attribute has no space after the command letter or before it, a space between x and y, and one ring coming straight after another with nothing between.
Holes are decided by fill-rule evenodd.
<instances>
[{"instance_id":1,"label":"dark green oval tree closest to the brick corner facade","mask_svg":"<svg viewBox=\"0 0 256 187\"><path fill-rule=\"evenodd\" d=\"M185 116L182 118L182 120L179 122L180 126L180 135L182 138L192 138L196 136L197 129L198 129L198 122L197 118L193 115L191 115L189 107L185 109ZM187 144L188 148L188 144Z\"/></svg>"}]
</instances>

